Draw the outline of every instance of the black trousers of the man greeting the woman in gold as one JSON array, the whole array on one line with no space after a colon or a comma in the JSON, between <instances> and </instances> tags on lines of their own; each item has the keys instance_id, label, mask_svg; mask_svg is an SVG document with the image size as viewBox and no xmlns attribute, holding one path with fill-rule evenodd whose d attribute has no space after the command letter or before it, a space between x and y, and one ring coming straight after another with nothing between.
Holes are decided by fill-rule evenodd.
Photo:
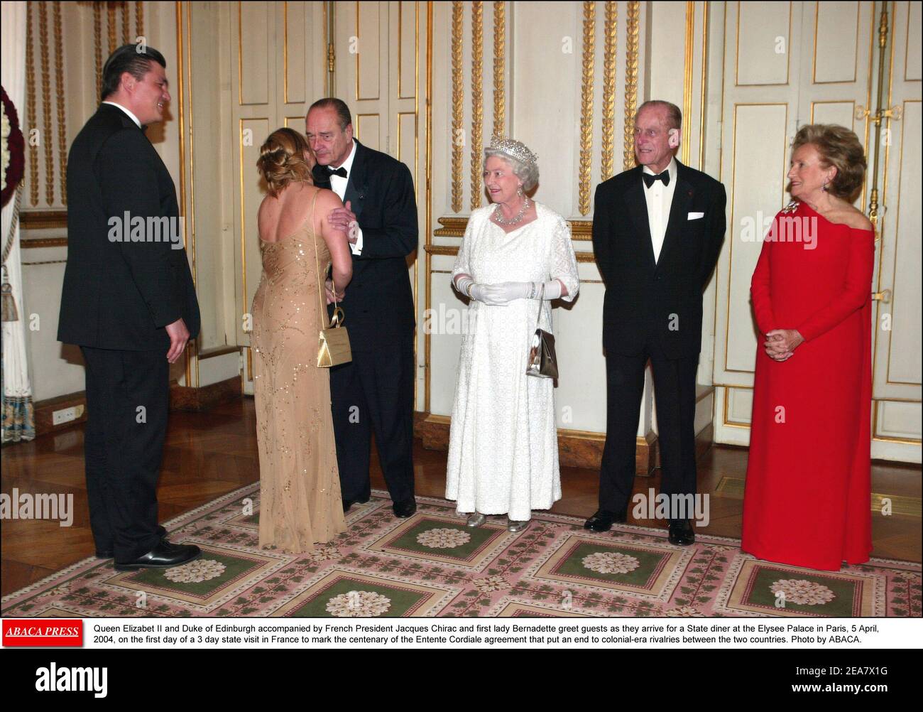
<instances>
[{"instance_id":1,"label":"black trousers of the man greeting the woman in gold","mask_svg":"<svg viewBox=\"0 0 923 712\"><path fill-rule=\"evenodd\" d=\"M393 501L414 497L414 337L354 351L330 368L330 409L343 500L365 500L375 433L378 460Z\"/></svg>"}]
</instances>

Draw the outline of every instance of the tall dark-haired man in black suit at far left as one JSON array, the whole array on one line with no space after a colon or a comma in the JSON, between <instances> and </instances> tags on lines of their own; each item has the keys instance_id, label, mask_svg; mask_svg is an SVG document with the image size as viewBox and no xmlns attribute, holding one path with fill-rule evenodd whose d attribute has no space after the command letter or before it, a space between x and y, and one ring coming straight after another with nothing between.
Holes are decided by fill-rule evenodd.
<instances>
[{"instance_id":1,"label":"tall dark-haired man in black suit at far left","mask_svg":"<svg viewBox=\"0 0 923 712\"><path fill-rule=\"evenodd\" d=\"M169 369L198 334L176 190L144 127L170 101L166 62L126 44L67 160L67 266L58 340L87 370L84 457L96 555L130 571L196 559L157 523Z\"/></svg>"}]
</instances>

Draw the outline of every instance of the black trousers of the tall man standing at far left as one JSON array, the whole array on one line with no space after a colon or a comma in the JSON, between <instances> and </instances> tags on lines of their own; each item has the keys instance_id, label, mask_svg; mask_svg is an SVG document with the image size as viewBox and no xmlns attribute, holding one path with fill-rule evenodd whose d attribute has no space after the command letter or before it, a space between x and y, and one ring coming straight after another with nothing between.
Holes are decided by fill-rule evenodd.
<instances>
[{"instance_id":1,"label":"black trousers of the tall man standing at far left","mask_svg":"<svg viewBox=\"0 0 923 712\"><path fill-rule=\"evenodd\" d=\"M87 365L84 458L96 549L116 561L146 554L161 538L157 481L167 431L166 352L82 346Z\"/></svg>"}]
</instances>

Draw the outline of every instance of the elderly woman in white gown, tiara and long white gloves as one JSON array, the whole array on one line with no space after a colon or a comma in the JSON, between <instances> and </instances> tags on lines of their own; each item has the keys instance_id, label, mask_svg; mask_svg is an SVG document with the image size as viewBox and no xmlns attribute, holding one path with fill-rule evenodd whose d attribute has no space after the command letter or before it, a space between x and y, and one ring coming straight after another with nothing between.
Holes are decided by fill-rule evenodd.
<instances>
[{"instance_id":1,"label":"elderly woman in white gown, tiara and long white gloves","mask_svg":"<svg viewBox=\"0 0 923 712\"><path fill-rule=\"evenodd\" d=\"M527 376L526 364L536 320L552 332L551 300L571 301L580 281L568 223L525 195L538 182L536 156L513 139L494 139L484 152L493 204L472 212L452 271L471 301L446 498L469 526L506 514L518 532L533 509L561 499L554 381Z\"/></svg>"}]
</instances>

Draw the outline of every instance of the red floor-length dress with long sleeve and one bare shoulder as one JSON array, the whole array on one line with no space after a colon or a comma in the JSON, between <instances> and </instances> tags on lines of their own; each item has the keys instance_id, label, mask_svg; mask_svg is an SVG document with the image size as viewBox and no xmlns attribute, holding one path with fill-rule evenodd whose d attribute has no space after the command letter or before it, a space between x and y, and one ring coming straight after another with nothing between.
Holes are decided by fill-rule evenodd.
<instances>
[{"instance_id":1,"label":"red floor-length dress with long sleeve and one bare shoulder","mask_svg":"<svg viewBox=\"0 0 923 712\"><path fill-rule=\"evenodd\" d=\"M827 221L803 202L763 243L751 294L761 332L753 387L741 549L768 561L839 571L871 553L871 276L875 235ZM781 220L781 222L780 222ZM806 240L804 230L811 230ZM764 334L797 329L782 363Z\"/></svg>"}]
</instances>

